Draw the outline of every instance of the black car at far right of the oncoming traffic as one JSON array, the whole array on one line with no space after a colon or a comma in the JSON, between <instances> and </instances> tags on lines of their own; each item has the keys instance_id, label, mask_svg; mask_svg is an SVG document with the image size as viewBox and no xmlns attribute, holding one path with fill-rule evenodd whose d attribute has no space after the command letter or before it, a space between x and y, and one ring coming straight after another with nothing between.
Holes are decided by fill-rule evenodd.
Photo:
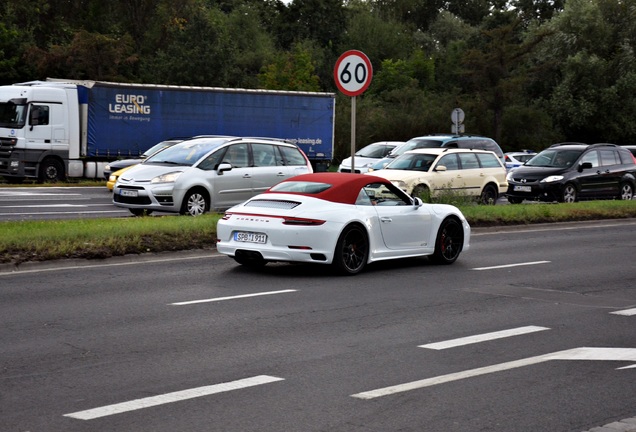
<instances>
[{"instance_id":1,"label":"black car at far right of the oncoming traffic","mask_svg":"<svg viewBox=\"0 0 636 432\"><path fill-rule=\"evenodd\" d=\"M614 144L554 144L508 173L508 201L575 202L634 196L636 160Z\"/></svg>"}]
</instances>

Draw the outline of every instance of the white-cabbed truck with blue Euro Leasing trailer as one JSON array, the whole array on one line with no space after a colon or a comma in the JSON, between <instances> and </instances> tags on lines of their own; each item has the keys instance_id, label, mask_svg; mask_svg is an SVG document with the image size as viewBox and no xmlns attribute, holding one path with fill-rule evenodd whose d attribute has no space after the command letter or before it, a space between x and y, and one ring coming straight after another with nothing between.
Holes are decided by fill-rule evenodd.
<instances>
[{"instance_id":1,"label":"white-cabbed truck with blue Euro Leasing trailer","mask_svg":"<svg viewBox=\"0 0 636 432\"><path fill-rule=\"evenodd\" d=\"M196 135L284 139L324 171L334 119L334 93L60 79L0 86L0 176L100 178L108 162Z\"/></svg>"}]
</instances>

